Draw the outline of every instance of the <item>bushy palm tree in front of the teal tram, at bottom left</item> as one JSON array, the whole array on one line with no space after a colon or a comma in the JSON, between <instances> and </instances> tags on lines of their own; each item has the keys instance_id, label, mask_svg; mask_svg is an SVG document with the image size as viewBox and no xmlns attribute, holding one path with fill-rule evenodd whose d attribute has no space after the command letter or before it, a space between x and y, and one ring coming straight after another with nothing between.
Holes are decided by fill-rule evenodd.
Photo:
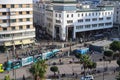
<instances>
[{"instance_id":1,"label":"bushy palm tree in front of the teal tram, at bottom left","mask_svg":"<svg viewBox=\"0 0 120 80\"><path fill-rule=\"evenodd\" d=\"M45 64L45 60L38 60L31 66L29 71L33 74L34 80L43 80L45 77L46 69L47 64Z\"/></svg>"}]
</instances>

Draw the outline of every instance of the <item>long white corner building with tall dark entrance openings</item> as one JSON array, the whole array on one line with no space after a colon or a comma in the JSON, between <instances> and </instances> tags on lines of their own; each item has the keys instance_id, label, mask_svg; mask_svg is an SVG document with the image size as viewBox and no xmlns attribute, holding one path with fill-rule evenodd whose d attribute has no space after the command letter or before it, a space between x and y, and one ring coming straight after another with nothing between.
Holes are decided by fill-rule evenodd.
<instances>
[{"instance_id":1,"label":"long white corner building with tall dark entrance openings","mask_svg":"<svg viewBox=\"0 0 120 80\"><path fill-rule=\"evenodd\" d=\"M76 39L83 37L84 32L87 35L91 31L113 27L114 8L111 5L91 8L78 4L76 0L54 0L51 4L45 4L44 23L53 38Z\"/></svg>"}]
</instances>

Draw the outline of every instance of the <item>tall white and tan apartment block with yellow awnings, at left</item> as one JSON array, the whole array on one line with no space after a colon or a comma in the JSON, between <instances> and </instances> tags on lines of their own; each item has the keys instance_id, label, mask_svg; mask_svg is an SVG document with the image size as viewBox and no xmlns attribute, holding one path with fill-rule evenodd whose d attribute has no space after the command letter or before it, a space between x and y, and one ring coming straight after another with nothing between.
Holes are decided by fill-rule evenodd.
<instances>
[{"instance_id":1,"label":"tall white and tan apartment block with yellow awnings, at left","mask_svg":"<svg viewBox=\"0 0 120 80\"><path fill-rule=\"evenodd\" d=\"M34 42L32 0L0 0L0 46Z\"/></svg>"}]
</instances>

